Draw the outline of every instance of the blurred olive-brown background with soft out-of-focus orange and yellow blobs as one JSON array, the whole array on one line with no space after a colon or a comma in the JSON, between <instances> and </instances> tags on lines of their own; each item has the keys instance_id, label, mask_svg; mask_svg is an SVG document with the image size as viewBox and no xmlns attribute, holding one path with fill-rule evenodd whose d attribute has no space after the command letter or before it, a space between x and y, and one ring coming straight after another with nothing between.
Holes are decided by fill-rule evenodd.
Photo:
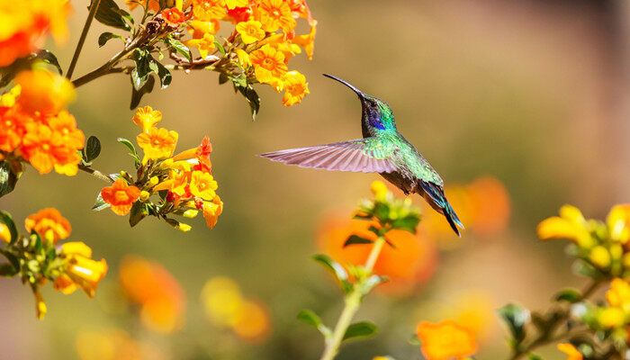
<instances>
[{"instance_id":1,"label":"blurred olive-brown background with soft out-of-focus orange and yellow blobs","mask_svg":"<svg viewBox=\"0 0 630 360\"><path fill-rule=\"evenodd\" d=\"M86 14L84 1L73 3L74 37L56 49L64 68ZM419 236L401 249L406 257L388 254L391 261L383 262L383 271L396 274L392 284L368 297L357 316L373 320L380 333L347 345L338 359L419 359L419 347L409 342L416 324L442 319L474 329L478 358L505 357L494 309L506 302L542 309L560 287L582 284L563 244L537 240L536 224L563 203L603 219L614 203L630 198L630 6L621 0L309 5L319 21L315 55L292 60L311 89L302 104L284 108L281 94L260 86L262 110L253 122L242 97L210 72L174 73L172 85L140 103L163 112L160 126L179 132L180 150L210 137L212 173L225 203L215 229L201 218L186 234L154 219L129 229L111 211L90 211L103 187L98 180L28 169L2 209L22 223L56 207L72 223L70 238L85 240L110 270L92 301L47 287L43 321L35 319L22 284L0 280L0 358L319 358L320 334L295 316L311 308L332 325L342 295L311 255L348 256L335 241L379 176L282 166L255 155L360 137L356 95L324 72L390 103L399 130L445 179L469 228L455 239L424 207ZM113 41L96 50L103 31L93 25L77 75L117 50ZM70 108L85 135L101 139L94 166L103 172L132 168L116 142L137 135L129 103L128 77L111 75L78 89ZM419 196L413 201L424 205ZM130 293L141 286L159 289L163 301L143 306ZM553 347L541 355L563 358Z\"/></svg>"}]
</instances>

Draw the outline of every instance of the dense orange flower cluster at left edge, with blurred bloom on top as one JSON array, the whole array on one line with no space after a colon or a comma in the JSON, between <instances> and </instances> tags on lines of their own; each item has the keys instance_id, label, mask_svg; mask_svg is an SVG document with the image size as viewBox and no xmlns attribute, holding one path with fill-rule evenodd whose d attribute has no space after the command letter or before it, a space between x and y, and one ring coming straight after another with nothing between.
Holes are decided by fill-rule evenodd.
<instances>
[{"instance_id":1,"label":"dense orange flower cluster at left edge, with blurred bloom on top","mask_svg":"<svg viewBox=\"0 0 630 360\"><path fill-rule=\"evenodd\" d=\"M54 168L76 175L85 136L64 110L74 97L72 84L47 70L23 71L15 84L0 97L0 160L14 175L22 173L22 162L40 174Z\"/></svg>"}]
</instances>

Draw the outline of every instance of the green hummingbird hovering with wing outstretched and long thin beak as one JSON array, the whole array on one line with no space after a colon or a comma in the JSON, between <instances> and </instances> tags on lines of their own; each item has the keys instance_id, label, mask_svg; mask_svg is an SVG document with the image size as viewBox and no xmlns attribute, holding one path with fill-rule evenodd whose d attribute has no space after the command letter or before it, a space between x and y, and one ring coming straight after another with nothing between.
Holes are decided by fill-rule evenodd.
<instances>
[{"instance_id":1,"label":"green hummingbird hovering with wing outstretched and long thin beak","mask_svg":"<svg viewBox=\"0 0 630 360\"><path fill-rule=\"evenodd\" d=\"M457 236L461 236L457 227L464 229L464 225L446 200L444 181L418 149L398 131L390 105L364 94L336 76L323 75L346 85L358 95L362 108L363 139L290 148L259 156L301 167L379 173L405 195L418 193L422 196L434 210L444 215Z\"/></svg>"}]
</instances>

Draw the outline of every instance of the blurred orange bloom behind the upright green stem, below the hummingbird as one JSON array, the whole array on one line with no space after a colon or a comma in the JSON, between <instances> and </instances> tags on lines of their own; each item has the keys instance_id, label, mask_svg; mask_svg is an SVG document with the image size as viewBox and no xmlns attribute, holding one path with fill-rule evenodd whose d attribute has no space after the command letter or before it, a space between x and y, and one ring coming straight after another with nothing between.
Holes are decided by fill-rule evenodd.
<instances>
[{"instance_id":1,"label":"blurred orange bloom behind the upright green stem, below the hummingbird","mask_svg":"<svg viewBox=\"0 0 630 360\"><path fill-rule=\"evenodd\" d=\"M363 265L372 245L343 247L350 235L375 240L368 228L370 221L351 220L343 216L329 216L320 226L317 239L320 248L342 266ZM403 230L392 230L386 238L394 247L385 246L374 266L374 273L387 276L390 281L377 289L404 293L414 285L423 284L433 275L437 266L436 246L427 237L416 236Z\"/></svg>"}]
</instances>

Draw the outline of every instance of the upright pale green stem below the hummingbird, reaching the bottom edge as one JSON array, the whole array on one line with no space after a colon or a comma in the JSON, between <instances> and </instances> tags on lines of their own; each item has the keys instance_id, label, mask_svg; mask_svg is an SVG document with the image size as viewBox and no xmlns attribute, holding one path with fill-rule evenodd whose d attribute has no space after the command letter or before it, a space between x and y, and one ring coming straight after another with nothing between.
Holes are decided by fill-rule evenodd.
<instances>
[{"instance_id":1,"label":"upright pale green stem below the hummingbird, reaching the bottom edge","mask_svg":"<svg viewBox=\"0 0 630 360\"><path fill-rule=\"evenodd\" d=\"M337 325L335 325L332 336L326 340L326 348L320 360L333 360L335 356L337 356L341 342L346 335L347 328L355 317L356 311L358 311L361 306L361 301L365 294L365 279L372 274L374 264L376 264L376 260L381 254L384 244L385 238L383 237L379 237L374 242L374 247L372 247L372 251L369 257L367 257L367 261L365 261L365 277L357 280L352 288L352 292L347 294L346 306L344 310L341 311L341 315L339 315L339 320L337 321Z\"/></svg>"}]
</instances>

